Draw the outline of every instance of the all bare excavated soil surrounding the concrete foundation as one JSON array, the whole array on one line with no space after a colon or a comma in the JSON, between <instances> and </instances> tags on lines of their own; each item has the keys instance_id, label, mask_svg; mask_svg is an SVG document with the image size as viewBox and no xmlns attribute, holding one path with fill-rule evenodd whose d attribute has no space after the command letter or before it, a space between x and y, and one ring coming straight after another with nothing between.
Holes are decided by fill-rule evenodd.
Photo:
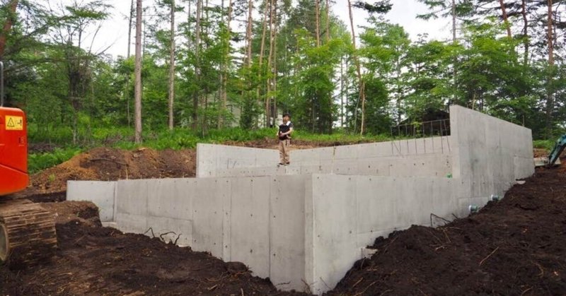
<instances>
[{"instance_id":1,"label":"all bare excavated soil surrounding the concrete foundation","mask_svg":"<svg viewBox=\"0 0 566 296\"><path fill-rule=\"evenodd\" d=\"M28 196L57 215L57 256L23 271L0 266L0 295L306 295L278 292L240 263L101 227L92 203L49 202L65 189L60 178L122 179L125 167L130 178L194 175L183 165L194 151L173 154L98 148L35 175ZM525 181L467 218L376 239L376 254L326 295L566 295L566 166Z\"/></svg>"}]
</instances>

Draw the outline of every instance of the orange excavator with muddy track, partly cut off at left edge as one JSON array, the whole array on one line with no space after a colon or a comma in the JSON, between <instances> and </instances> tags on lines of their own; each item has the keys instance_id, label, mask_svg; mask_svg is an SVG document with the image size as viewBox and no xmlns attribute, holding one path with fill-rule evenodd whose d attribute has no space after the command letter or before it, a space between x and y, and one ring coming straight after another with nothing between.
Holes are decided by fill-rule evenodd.
<instances>
[{"instance_id":1,"label":"orange excavator with muddy track, partly cut off at left edge","mask_svg":"<svg viewBox=\"0 0 566 296\"><path fill-rule=\"evenodd\" d=\"M28 184L25 114L4 107L4 64L0 61L0 262L11 268L50 259L57 248L52 213L38 203L10 196Z\"/></svg>"}]
</instances>

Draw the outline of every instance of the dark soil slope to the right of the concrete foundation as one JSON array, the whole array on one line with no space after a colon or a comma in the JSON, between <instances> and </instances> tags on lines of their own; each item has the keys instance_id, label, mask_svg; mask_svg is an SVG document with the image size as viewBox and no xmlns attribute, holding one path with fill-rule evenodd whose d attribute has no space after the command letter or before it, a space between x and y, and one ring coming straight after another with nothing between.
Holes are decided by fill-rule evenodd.
<instances>
[{"instance_id":1,"label":"dark soil slope to the right of the concrete foundation","mask_svg":"<svg viewBox=\"0 0 566 296\"><path fill-rule=\"evenodd\" d=\"M373 247L327 295L566 295L566 174L538 170L478 214Z\"/></svg>"}]
</instances>

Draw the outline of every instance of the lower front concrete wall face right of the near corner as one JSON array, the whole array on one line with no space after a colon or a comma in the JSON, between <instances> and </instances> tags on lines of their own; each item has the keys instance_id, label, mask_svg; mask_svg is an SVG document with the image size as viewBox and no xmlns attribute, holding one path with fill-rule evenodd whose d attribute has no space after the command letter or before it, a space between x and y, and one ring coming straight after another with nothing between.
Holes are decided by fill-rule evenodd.
<instances>
[{"instance_id":1,"label":"lower front concrete wall face right of the near corner","mask_svg":"<svg viewBox=\"0 0 566 296\"><path fill-rule=\"evenodd\" d=\"M306 211L306 280L320 295L333 288L379 236L410 225L430 225L431 213L466 215L470 199L457 179L313 175ZM475 200L486 203L488 196Z\"/></svg>"}]
</instances>

